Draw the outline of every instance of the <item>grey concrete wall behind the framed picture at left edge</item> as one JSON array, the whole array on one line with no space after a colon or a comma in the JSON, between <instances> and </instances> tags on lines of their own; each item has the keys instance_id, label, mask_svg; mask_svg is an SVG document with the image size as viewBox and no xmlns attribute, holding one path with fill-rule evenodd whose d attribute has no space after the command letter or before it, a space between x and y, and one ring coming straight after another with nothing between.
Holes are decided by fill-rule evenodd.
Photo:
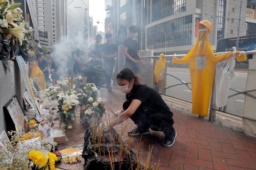
<instances>
[{"instance_id":1,"label":"grey concrete wall behind the framed picture at left edge","mask_svg":"<svg viewBox=\"0 0 256 170\"><path fill-rule=\"evenodd\" d=\"M11 72L0 61L0 132L6 130L6 124L12 120L6 120L3 106L17 95L18 101L22 104L22 95L25 92L25 83L22 78L20 68L16 61L11 60ZM23 108L23 106L21 106Z\"/></svg>"}]
</instances>

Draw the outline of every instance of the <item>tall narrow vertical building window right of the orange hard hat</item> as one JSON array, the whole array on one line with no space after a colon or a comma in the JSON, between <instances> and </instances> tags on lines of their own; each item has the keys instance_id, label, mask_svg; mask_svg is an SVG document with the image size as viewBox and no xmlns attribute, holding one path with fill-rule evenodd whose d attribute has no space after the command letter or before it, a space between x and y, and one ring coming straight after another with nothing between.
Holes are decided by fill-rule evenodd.
<instances>
[{"instance_id":1,"label":"tall narrow vertical building window right of the orange hard hat","mask_svg":"<svg viewBox=\"0 0 256 170\"><path fill-rule=\"evenodd\" d=\"M224 38L226 0L219 0L218 7L218 24L217 24L217 40Z\"/></svg>"}]
</instances>

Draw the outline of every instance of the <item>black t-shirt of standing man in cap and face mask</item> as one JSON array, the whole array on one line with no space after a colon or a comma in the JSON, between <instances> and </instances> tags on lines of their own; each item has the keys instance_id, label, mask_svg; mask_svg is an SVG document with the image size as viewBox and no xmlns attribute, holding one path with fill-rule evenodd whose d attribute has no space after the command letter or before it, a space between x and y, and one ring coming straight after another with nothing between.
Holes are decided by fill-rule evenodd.
<instances>
[{"instance_id":1,"label":"black t-shirt of standing man in cap and face mask","mask_svg":"<svg viewBox=\"0 0 256 170\"><path fill-rule=\"evenodd\" d=\"M123 41L123 46L127 47L127 53L135 60L139 60L138 56L138 40L132 40L130 37Z\"/></svg>"}]
</instances>

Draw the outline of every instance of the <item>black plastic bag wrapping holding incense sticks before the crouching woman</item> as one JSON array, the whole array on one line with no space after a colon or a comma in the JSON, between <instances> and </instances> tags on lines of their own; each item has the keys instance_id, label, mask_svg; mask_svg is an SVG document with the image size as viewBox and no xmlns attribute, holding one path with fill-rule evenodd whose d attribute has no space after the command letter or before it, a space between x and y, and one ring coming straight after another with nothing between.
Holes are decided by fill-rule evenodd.
<instances>
[{"instance_id":1,"label":"black plastic bag wrapping holding incense sticks before the crouching woman","mask_svg":"<svg viewBox=\"0 0 256 170\"><path fill-rule=\"evenodd\" d=\"M116 139L119 139L116 130L114 130L112 128L111 131L112 131L112 134L105 135L105 143L109 142L111 136L116 136ZM92 141L92 127L90 127L89 129L86 130L84 140L85 140L84 149L82 151L82 157L85 159L84 170L95 170L95 169L109 170L109 169L111 169L110 162L102 160L97 153L100 149L102 154L104 152L106 154L106 153L108 153L108 148L109 149L113 148L113 152L117 153L119 151L119 147L120 147L118 144L121 142L118 142L118 140L116 140L115 141L116 145L105 144L104 145L105 147L100 146L100 148L95 146L96 152L94 152L94 146L92 145L92 142L91 142ZM114 169L131 169L131 167L133 167L133 169L136 168L136 166L137 166L136 155L132 151L132 149L128 149L128 150L129 150L129 156L126 160L112 162Z\"/></svg>"}]
</instances>

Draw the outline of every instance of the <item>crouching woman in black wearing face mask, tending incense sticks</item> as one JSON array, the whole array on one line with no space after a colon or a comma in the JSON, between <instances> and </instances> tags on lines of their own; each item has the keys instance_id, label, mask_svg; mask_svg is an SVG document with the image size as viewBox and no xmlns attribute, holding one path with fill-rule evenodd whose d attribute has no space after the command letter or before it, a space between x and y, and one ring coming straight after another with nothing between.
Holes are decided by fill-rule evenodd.
<instances>
[{"instance_id":1,"label":"crouching woman in black wearing face mask, tending incense sticks","mask_svg":"<svg viewBox=\"0 0 256 170\"><path fill-rule=\"evenodd\" d=\"M171 147L175 143L177 133L172 126L173 113L162 97L151 87L140 84L133 71L122 69L116 76L120 90L126 94L123 103L123 112L119 114L109 125L118 125L128 118L132 119L137 128L128 132L129 136L149 134L149 128L154 131L162 131L165 134L162 145Z\"/></svg>"}]
</instances>

